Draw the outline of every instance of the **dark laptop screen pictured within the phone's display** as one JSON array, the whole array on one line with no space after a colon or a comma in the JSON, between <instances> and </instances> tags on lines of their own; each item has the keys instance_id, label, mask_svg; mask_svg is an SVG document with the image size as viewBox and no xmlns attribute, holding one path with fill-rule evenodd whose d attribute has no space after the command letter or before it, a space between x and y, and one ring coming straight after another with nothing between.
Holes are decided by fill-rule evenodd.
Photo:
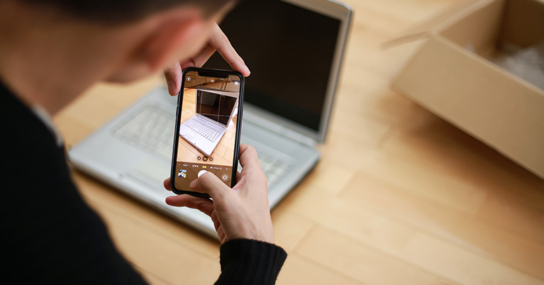
<instances>
[{"instance_id":1,"label":"dark laptop screen pictured within the phone's display","mask_svg":"<svg viewBox=\"0 0 544 285\"><path fill-rule=\"evenodd\" d=\"M197 89L196 113L226 126L231 119L236 100L236 97Z\"/></svg>"}]
</instances>

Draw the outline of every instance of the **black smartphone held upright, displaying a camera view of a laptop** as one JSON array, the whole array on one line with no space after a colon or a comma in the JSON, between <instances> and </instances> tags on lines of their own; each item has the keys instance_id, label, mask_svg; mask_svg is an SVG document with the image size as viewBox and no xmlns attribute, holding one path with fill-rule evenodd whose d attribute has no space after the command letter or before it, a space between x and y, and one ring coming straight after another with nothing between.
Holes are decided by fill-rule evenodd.
<instances>
[{"instance_id":1,"label":"black smartphone held upright, displaying a camera view of a laptop","mask_svg":"<svg viewBox=\"0 0 544 285\"><path fill-rule=\"evenodd\" d=\"M209 197L189 184L206 172L236 183L244 77L227 70L190 67L183 72L176 112L171 186L175 194Z\"/></svg>"}]
</instances>

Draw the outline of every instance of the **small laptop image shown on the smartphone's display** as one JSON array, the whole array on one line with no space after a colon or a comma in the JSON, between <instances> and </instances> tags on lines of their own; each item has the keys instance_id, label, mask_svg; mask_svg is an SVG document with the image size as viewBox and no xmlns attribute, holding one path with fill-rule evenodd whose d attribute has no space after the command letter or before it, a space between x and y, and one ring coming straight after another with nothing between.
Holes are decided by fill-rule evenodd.
<instances>
[{"instance_id":1,"label":"small laptop image shown on the smartphone's display","mask_svg":"<svg viewBox=\"0 0 544 285\"><path fill-rule=\"evenodd\" d=\"M211 156L223 138L238 106L238 93L199 89L184 96L196 96L195 114L179 126L179 135L206 157Z\"/></svg>"}]
</instances>

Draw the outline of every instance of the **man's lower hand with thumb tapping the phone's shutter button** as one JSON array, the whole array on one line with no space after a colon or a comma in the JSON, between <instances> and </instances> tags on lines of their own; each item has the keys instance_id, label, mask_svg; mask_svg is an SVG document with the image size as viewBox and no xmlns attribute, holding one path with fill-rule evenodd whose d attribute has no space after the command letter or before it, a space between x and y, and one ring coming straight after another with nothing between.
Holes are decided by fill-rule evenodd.
<instances>
[{"instance_id":1,"label":"man's lower hand with thumb tapping the phone's shutter button","mask_svg":"<svg viewBox=\"0 0 544 285\"><path fill-rule=\"evenodd\" d=\"M191 190L207 193L211 199L189 195L167 197L170 206L196 208L211 217L221 244L246 238L274 243L274 230L268 204L267 179L257 159L255 148L240 145L238 183L231 189L209 172L191 182ZM170 189L170 179L165 180Z\"/></svg>"}]
</instances>

